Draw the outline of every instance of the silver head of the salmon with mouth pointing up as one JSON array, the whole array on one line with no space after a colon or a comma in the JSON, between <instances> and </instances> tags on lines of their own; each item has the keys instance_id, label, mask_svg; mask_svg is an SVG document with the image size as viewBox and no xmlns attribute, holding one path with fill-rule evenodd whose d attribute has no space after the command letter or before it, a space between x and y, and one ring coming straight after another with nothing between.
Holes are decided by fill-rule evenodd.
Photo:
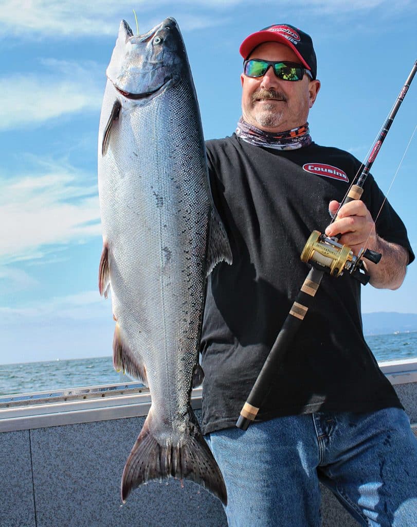
<instances>
[{"instance_id":1,"label":"silver head of the salmon with mouth pointing up","mask_svg":"<svg viewBox=\"0 0 417 527\"><path fill-rule=\"evenodd\" d=\"M188 67L174 18L166 18L143 35L134 35L122 20L106 74L123 96L140 101L152 99L179 82Z\"/></svg>"}]
</instances>

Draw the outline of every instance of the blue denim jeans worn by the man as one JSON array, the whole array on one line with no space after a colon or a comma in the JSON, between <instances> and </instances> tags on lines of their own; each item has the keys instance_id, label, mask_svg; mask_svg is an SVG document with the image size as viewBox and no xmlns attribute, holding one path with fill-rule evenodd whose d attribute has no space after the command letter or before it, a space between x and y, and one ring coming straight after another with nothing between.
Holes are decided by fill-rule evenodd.
<instances>
[{"instance_id":1,"label":"blue denim jeans worn by the man","mask_svg":"<svg viewBox=\"0 0 417 527\"><path fill-rule=\"evenodd\" d=\"M206 439L229 527L319 527L319 481L360 525L417 526L417 441L398 408L279 417Z\"/></svg>"}]
</instances>

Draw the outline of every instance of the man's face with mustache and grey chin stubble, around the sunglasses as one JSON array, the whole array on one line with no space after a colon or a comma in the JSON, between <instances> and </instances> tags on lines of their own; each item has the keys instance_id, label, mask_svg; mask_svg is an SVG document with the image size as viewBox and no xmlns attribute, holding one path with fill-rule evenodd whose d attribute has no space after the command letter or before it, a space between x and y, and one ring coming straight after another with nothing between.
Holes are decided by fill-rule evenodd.
<instances>
[{"instance_id":1,"label":"man's face with mustache and grey chin stubble, around the sunglasses","mask_svg":"<svg viewBox=\"0 0 417 527\"><path fill-rule=\"evenodd\" d=\"M290 47L277 42L255 47L247 58L301 64ZM266 132L284 132L305 124L320 89L320 81L312 81L306 74L301 81L283 81L272 67L262 77L242 73L241 81L243 119Z\"/></svg>"}]
</instances>

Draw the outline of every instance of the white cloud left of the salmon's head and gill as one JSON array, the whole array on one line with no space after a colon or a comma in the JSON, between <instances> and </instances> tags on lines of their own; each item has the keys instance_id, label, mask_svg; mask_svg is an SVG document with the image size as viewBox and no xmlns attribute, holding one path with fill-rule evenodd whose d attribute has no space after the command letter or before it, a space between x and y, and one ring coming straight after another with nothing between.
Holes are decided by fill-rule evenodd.
<instances>
[{"instance_id":1,"label":"white cloud left of the salmon's head and gill","mask_svg":"<svg viewBox=\"0 0 417 527\"><path fill-rule=\"evenodd\" d=\"M44 60L43 73L0 77L0 130L41 124L61 115L100 109L104 67Z\"/></svg>"}]
</instances>

